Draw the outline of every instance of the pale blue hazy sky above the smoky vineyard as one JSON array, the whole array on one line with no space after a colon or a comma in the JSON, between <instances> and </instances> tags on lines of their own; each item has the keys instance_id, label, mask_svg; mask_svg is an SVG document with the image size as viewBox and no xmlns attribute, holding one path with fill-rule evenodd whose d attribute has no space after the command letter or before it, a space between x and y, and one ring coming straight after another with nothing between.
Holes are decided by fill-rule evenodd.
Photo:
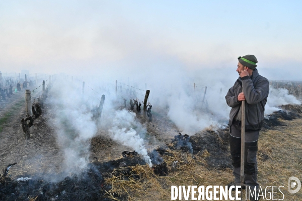
<instances>
[{"instance_id":1,"label":"pale blue hazy sky above the smoky vineyard","mask_svg":"<svg viewBox=\"0 0 302 201\"><path fill-rule=\"evenodd\" d=\"M302 1L0 1L0 70L236 68L302 80ZM236 69L235 69L236 70Z\"/></svg>"}]
</instances>

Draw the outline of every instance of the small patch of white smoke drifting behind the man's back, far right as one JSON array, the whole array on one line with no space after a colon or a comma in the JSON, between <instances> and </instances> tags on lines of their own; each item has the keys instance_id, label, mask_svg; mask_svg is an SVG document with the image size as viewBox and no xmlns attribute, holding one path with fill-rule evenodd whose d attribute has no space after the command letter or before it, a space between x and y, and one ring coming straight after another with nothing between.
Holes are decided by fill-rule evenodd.
<instances>
[{"instance_id":1,"label":"small patch of white smoke drifting behind the man's back, far right","mask_svg":"<svg viewBox=\"0 0 302 201\"><path fill-rule=\"evenodd\" d=\"M300 100L295 96L288 94L286 88L270 88L269 95L267 97L267 103L265 105L265 114L269 115L275 111L279 111L278 106L287 104L301 104Z\"/></svg>"}]
</instances>

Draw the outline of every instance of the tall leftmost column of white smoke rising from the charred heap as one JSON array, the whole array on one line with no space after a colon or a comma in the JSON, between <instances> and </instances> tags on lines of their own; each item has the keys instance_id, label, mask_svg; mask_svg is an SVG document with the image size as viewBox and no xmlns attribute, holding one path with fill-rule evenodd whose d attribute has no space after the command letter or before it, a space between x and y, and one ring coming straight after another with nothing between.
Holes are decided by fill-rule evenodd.
<instances>
[{"instance_id":1,"label":"tall leftmost column of white smoke rising from the charred heap","mask_svg":"<svg viewBox=\"0 0 302 201\"><path fill-rule=\"evenodd\" d=\"M83 102L82 91L70 83L54 84L50 101L53 105L57 143L63 153L66 172L77 173L87 167L90 156L90 139L97 126Z\"/></svg>"}]
</instances>

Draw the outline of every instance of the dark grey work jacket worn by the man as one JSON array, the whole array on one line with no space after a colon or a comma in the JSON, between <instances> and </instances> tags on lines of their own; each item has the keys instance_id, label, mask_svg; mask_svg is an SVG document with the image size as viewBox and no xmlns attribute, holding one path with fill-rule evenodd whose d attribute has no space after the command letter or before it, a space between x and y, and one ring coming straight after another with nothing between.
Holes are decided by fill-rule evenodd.
<instances>
[{"instance_id":1,"label":"dark grey work jacket worn by the man","mask_svg":"<svg viewBox=\"0 0 302 201\"><path fill-rule=\"evenodd\" d=\"M233 124L234 117L241 107L241 102L238 101L237 96L242 92L242 86L246 98L245 130L260 130L263 126L264 106L269 92L269 82L265 77L259 75L257 69L254 70L252 78L250 76L239 77L225 96L226 104L232 108L229 126L231 127Z\"/></svg>"}]
</instances>

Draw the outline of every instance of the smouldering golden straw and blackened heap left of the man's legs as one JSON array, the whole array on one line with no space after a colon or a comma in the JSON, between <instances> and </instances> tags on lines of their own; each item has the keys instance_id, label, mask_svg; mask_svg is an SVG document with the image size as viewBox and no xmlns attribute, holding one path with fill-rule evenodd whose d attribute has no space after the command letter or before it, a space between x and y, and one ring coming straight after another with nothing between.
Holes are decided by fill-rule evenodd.
<instances>
[{"instance_id":1,"label":"smouldering golden straw and blackened heap left of the man's legs","mask_svg":"<svg viewBox=\"0 0 302 201\"><path fill-rule=\"evenodd\" d=\"M204 167L231 168L228 139L226 130L206 130L195 136L178 134L167 147L148 154L155 164L152 168L136 165L117 168L108 174L105 183L111 189L105 196L114 200L135 200L134 197L143 195L163 200L167 198L167 189L176 180L192 180L192 175L200 175L198 172ZM154 191L161 193L154 194Z\"/></svg>"}]
</instances>

